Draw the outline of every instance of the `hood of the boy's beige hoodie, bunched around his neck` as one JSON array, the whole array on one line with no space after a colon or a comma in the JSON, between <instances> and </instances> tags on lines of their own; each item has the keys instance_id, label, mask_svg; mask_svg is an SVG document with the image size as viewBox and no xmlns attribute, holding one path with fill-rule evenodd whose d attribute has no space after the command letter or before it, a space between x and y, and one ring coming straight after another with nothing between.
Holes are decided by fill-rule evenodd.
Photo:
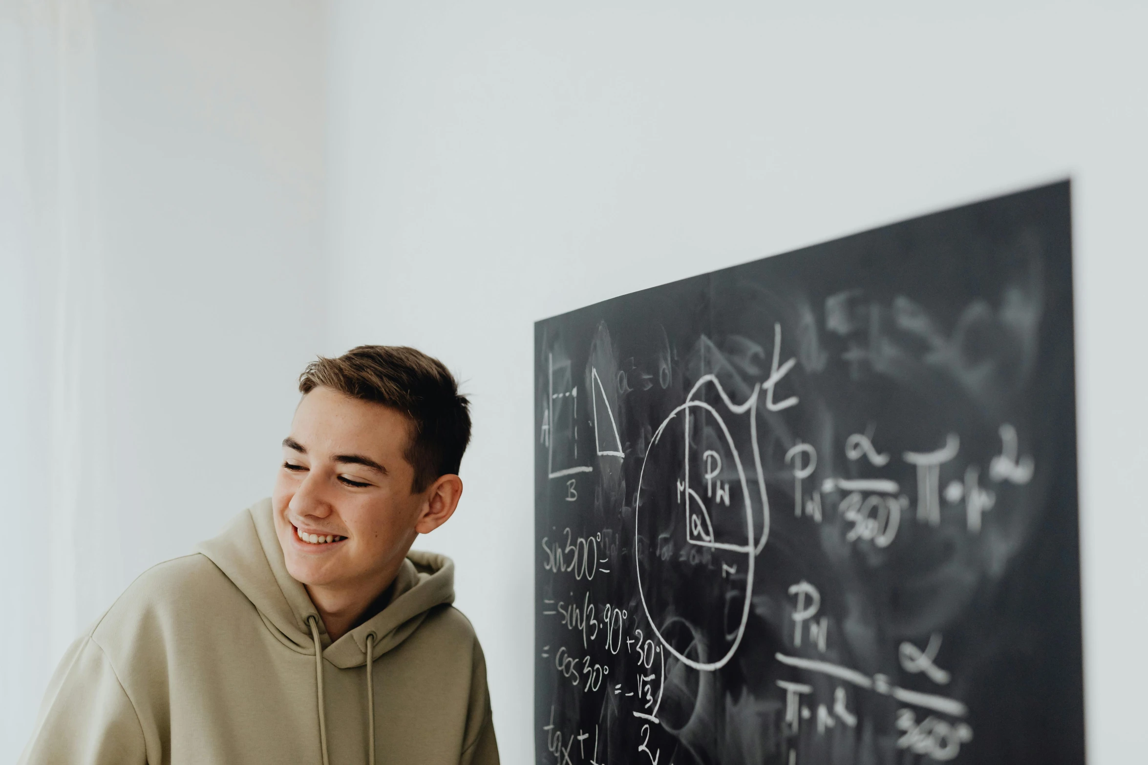
<instances>
[{"instance_id":1,"label":"hood of the boy's beige hoodie, bunched around his neck","mask_svg":"<svg viewBox=\"0 0 1148 765\"><path fill-rule=\"evenodd\" d=\"M390 601L373 617L332 642L307 588L292 578L276 534L271 500L241 513L215 539L201 542L205 555L251 602L266 627L287 647L313 654L309 618L319 625L325 659L339 669L366 663L366 638L375 635L375 657L402 645L427 612L455 601L455 563L445 555L411 551L398 569Z\"/></svg>"}]
</instances>

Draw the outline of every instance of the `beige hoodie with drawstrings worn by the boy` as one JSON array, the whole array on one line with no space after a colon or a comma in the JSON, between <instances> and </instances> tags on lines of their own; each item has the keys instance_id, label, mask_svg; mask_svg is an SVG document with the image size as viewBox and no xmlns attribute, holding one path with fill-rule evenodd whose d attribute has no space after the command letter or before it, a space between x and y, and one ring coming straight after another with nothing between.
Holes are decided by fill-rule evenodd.
<instances>
[{"instance_id":1,"label":"beige hoodie with drawstrings worn by the boy","mask_svg":"<svg viewBox=\"0 0 1148 765\"><path fill-rule=\"evenodd\" d=\"M359 765L373 735L380 765L497 764L453 570L411 552L390 603L332 643L258 502L146 571L72 643L21 762Z\"/></svg>"}]
</instances>

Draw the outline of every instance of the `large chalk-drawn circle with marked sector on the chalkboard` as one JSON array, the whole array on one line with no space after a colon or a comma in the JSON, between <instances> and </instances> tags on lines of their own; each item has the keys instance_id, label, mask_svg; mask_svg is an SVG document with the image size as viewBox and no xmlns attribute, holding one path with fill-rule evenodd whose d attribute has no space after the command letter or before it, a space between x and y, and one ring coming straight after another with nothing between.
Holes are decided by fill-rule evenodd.
<instances>
[{"instance_id":1,"label":"large chalk-drawn circle with marked sector on the chalkboard","mask_svg":"<svg viewBox=\"0 0 1148 765\"><path fill-rule=\"evenodd\" d=\"M700 385L701 383L699 382L698 387ZM695 388L695 391L697 391L698 387ZM670 412L669 416L661 422L650 442L650 446L646 448L642 471L638 477L637 498L634 508L634 531L635 539L646 538L652 540L651 549L646 556L651 569L661 565L664 576L673 577L675 584L685 585L682 587L665 586L662 584L662 591L677 593L683 590L691 593L699 590L704 591L703 596L697 599L701 602L656 602L654 606L662 606L660 610L666 610L670 619L682 619L684 616L683 611L689 611L690 609L697 611L695 616L700 617L698 620L707 624L695 625L695 627L700 629L703 633L708 632L711 640L714 637L713 633L720 632L721 639L729 642L729 647L724 651L720 649L711 651L711 655L722 654L720 658L713 662L697 661L675 648L666 639L658 629L658 620L651 614L652 591L657 590L660 584L657 573L651 570L651 576L643 577L642 555L635 555L635 568L637 570L638 595L642 601L643 611L665 649L688 666L696 670L714 671L724 666L734 657L745 634L753 594L754 559L765 544L765 538L768 533L768 507L765 505L765 491L762 489L765 526L761 540L755 545L750 481L746 477L734 436L721 413L714 406L692 398L695 391L691 391L690 398ZM722 392L720 385L719 392ZM723 392L722 398L726 399ZM751 419L757 415L757 391L754 391L754 395L745 405L734 406L728 399L726 403L734 414L748 411ZM700 471L700 476L698 475L699 471L695 470L692 479L690 475L691 415L695 422L700 423L705 420L716 426L715 428L709 427L706 429L707 437L715 442L715 448L704 450L701 454L693 456L695 460L700 459L700 465L705 467ZM759 465L760 458L757 453L755 423L751 420L751 424L754 426L752 428L754 462ZM693 451L698 452L698 450ZM714 481L720 475L720 468L723 462L722 452L724 452L727 460L731 458L732 465L736 468L737 481L734 486L729 484L723 485L720 478ZM760 482L760 467L758 475ZM697 486L691 483L691 481L697 482L699 478L705 481L704 487L700 483ZM647 481L651 483L647 484ZM740 490L739 502L731 501L731 490L736 489ZM701 493L706 494L706 499L703 499ZM740 515L736 510L738 506L744 508L744 542L740 539L740 521L737 518ZM645 518L645 523L652 530L647 530L646 534L643 534L643 518ZM684 541L681 548L674 551L669 540L681 540L683 536ZM667 551L669 551L668 555ZM698 553L698 551L701 551L701 553ZM684 564L676 565L678 561L670 561L674 557L674 552L681 553L681 561L684 561ZM704 565L699 564L701 561L705 562ZM714 562L718 563L720 569L715 570L713 568ZM675 565L676 568L674 568ZM727 575L729 575L728 578ZM739 581L743 578L745 580L744 593L735 585L735 581ZM705 596L709 593L714 593L718 596ZM743 601L742 612L737 627L732 629L729 619L730 614L727 611L730 603L738 595L740 595ZM718 608L716 612L713 611L715 606ZM656 610L659 609L656 608ZM722 625L720 630L714 626L715 622L720 622ZM718 645L718 642L712 641L712 645ZM699 658L705 657L699 655Z\"/></svg>"}]
</instances>

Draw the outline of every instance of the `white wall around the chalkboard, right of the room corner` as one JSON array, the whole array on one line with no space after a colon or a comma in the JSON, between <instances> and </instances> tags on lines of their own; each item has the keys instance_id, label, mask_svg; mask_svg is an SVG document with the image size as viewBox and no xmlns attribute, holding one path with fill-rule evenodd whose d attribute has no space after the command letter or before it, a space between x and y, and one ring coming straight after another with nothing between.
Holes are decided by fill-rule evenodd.
<instances>
[{"instance_id":1,"label":"white wall around the chalkboard, right of the room corner","mask_svg":"<svg viewBox=\"0 0 1148 765\"><path fill-rule=\"evenodd\" d=\"M1091 762L1141 751L1148 14L829 5L333 6L328 348L468 381L466 494L425 545L458 563L506 763L534 733L532 322L1065 174Z\"/></svg>"}]
</instances>

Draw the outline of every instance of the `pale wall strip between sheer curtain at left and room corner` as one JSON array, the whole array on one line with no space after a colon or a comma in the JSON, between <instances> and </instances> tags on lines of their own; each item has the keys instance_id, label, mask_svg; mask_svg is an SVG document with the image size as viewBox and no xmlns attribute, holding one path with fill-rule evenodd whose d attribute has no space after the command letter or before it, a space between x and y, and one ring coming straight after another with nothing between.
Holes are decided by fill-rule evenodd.
<instances>
[{"instance_id":1,"label":"pale wall strip between sheer curtain at left and room corner","mask_svg":"<svg viewBox=\"0 0 1148 765\"><path fill-rule=\"evenodd\" d=\"M270 494L326 333L321 0L98 6L125 576Z\"/></svg>"}]
</instances>

